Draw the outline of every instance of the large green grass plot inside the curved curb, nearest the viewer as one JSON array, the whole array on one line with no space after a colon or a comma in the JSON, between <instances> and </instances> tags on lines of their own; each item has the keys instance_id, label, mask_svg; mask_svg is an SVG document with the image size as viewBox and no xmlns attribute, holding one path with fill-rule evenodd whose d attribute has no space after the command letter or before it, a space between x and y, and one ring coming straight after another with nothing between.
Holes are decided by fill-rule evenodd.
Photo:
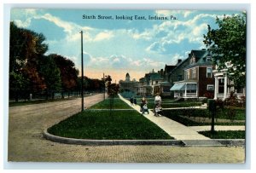
<instances>
[{"instance_id":1,"label":"large green grass plot inside the curved curb, nearest the viewer","mask_svg":"<svg viewBox=\"0 0 256 173\"><path fill-rule=\"evenodd\" d=\"M96 140L173 139L134 110L85 110L49 128L55 136Z\"/></svg>"}]
</instances>

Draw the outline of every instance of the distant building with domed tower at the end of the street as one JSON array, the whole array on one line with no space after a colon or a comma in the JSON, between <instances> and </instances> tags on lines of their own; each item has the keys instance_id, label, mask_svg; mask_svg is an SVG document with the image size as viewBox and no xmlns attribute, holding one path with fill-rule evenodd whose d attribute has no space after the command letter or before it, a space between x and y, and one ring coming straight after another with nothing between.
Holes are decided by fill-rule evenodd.
<instances>
[{"instance_id":1,"label":"distant building with domed tower at the end of the street","mask_svg":"<svg viewBox=\"0 0 256 173\"><path fill-rule=\"evenodd\" d=\"M126 91L137 94L137 86L138 82L136 81L136 79L131 80L130 74L128 72L125 75L125 81L119 81L120 92Z\"/></svg>"}]
</instances>

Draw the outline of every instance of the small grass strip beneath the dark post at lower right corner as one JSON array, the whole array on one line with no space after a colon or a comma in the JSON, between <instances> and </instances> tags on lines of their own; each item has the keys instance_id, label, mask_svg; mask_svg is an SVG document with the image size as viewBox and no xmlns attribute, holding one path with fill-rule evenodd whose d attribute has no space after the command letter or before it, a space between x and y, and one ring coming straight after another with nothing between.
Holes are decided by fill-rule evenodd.
<instances>
[{"instance_id":1,"label":"small grass strip beneath the dark post at lower right corner","mask_svg":"<svg viewBox=\"0 0 256 173\"><path fill-rule=\"evenodd\" d=\"M244 130L228 130L228 131L201 131L199 132L203 136L207 136L211 139L245 139L246 133Z\"/></svg>"}]
</instances>

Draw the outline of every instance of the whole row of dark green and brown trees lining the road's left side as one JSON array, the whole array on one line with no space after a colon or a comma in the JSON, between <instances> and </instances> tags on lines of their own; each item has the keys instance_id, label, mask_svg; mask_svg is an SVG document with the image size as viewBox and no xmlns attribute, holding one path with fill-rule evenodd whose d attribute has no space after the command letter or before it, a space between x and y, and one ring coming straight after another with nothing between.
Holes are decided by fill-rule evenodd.
<instances>
[{"instance_id":1,"label":"whole row of dark green and brown trees lining the road's left side","mask_svg":"<svg viewBox=\"0 0 256 173\"><path fill-rule=\"evenodd\" d=\"M54 97L55 92L79 91L81 78L73 61L63 55L45 55L48 45L46 37L10 23L9 47L9 96L18 101L28 98L30 93ZM86 78L84 88L102 90L104 83L99 79ZM78 93L78 92L77 92Z\"/></svg>"}]
</instances>

